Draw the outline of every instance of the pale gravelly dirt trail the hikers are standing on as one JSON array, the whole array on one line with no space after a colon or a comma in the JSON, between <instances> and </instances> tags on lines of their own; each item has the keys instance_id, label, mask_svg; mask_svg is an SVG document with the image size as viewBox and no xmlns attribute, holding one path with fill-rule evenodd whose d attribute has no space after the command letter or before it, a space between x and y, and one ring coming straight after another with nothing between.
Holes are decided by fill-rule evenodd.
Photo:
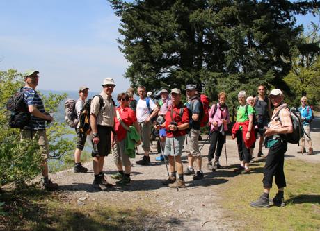
<instances>
[{"instance_id":1,"label":"pale gravelly dirt trail the hikers are standing on","mask_svg":"<svg viewBox=\"0 0 320 231\"><path fill-rule=\"evenodd\" d=\"M286 158L298 159L306 162L320 162L320 118L314 121L312 130L312 140L314 146L314 155L300 155L298 146L290 144ZM203 136L205 143L206 136ZM257 146L257 145L256 145ZM122 207L135 207L137 209L147 209L159 214L153 219L141 221L144 223L145 230L237 230L237 224L232 223L230 219L223 219L225 211L221 207L220 194L221 189L227 184L228 179L236 177L233 173L234 167L239 164L237 155L237 144L235 140L227 137L227 162L229 169L220 169L216 172L209 172L206 169L207 151L209 144L202 148L202 163L205 178L202 180L193 180L192 176L185 176L188 187L185 189L170 189L161 184L162 180L168 178L166 166L163 162L156 162L154 159L157 153L150 155L152 164L150 166L138 166L135 164L142 155L136 155L136 159L131 160L133 164L131 174L131 185L126 187L115 187L107 192L95 191L91 187L93 182L92 164L84 164L90 170L88 173L73 173L72 169L51 174L51 179L60 185L63 194L66 194L70 200L76 200L86 197L87 201L97 203L97 198L102 201L108 201L114 205ZM156 151L152 149L152 151ZM141 151L140 151L141 152ZM262 150L267 153L266 150ZM254 155L257 156L257 147ZM184 168L186 164L186 155L184 157ZM221 155L221 165L225 163L225 149ZM115 165L111 155L106 157L105 173L109 181L115 183L110 178L111 173L115 173ZM261 177L262 176L258 176ZM84 205L86 206L86 205ZM235 222L235 221L234 221Z\"/></svg>"}]
</instances>

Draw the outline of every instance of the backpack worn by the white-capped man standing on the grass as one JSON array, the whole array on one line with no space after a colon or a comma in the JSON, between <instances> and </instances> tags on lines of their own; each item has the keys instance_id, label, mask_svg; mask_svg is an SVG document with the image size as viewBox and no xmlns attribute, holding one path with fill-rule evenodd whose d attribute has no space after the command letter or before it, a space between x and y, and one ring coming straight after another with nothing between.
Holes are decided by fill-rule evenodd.
<instances>
[{"instance_id":1,"label":"backpack worn by the white-capped man standing on the grass","mask_svg":"<svg viewBox=\"0 0 320 231\"><path fill-rule=\"evenodd\" d=\"M287 108L287 106L284 106L282 108ZM282 110L282 108L280 108L280 110ZM282 124L279 117L280 110L278 110L278 112L272 117L271 120L278 117L280 124ZM289 108L287 108L287 110L289 110ZM296 110L291 109L289 110L289 112L290 112L290 117L292 121L293 131L292 133L279 134L279 135L281 139L287 141L290 144L298 144L301 137L303 137L303 134L305 133L305 130L303 130L303 122L301 121L301 118L298 116L298 113L296 112Z\"/></svg>"}]
</instances>

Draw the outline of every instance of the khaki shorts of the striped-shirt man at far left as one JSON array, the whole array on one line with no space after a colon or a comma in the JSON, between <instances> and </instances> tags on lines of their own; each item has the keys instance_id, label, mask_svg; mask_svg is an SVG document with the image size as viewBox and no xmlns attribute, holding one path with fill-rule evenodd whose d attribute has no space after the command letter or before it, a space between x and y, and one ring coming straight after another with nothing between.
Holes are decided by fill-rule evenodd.
<instances>
[{"instance_id":1,"label":"khaki shorts of the striped-shirt man at far left","mask_svg":"<svg viewBox=\"0 0 320 231\"><path fill-rule=\"evenodd\" d=\"M29 130L22 129L20 130L21 139L35 139L38 140L40 147L40 154L43 159L49 158L49 142L47 139L47 133L45 130Z\"/></svg>"}]
</instances>

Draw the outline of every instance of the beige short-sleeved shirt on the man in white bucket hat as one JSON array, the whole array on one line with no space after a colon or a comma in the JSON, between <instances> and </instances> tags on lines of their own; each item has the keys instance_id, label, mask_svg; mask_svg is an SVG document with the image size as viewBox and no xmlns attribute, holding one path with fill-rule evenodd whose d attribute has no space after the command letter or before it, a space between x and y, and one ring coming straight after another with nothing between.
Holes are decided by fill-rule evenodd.
<instances>
[{"instance_id":1,"label":"beige short-sleeved shirt on the man in white bucket hat","mask_svg":"<svg viewBox=\"0 0 320 231\"><path fill-rule=\"evenodd\" d=\"M103 91L100 93L104 99L104 106L100 109L99 97L91 101L91 114L97 117L97 125L113 127L115 117L115 106L112 102L112 96L108 96Z\"/></svg>"}]
</instances>

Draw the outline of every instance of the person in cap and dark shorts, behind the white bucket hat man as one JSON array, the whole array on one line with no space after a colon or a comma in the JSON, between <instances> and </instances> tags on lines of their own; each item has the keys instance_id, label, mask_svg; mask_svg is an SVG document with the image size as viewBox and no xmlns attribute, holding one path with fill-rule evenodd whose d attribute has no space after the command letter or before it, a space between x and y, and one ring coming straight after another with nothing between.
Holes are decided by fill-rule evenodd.
<instances>
[{"instance_id":1,"label":"person in cap and dark shorts, behind the white bucket hat man","mask_svg":"<svg viewBox=\"0 0 320 231\"><path fill-rule=\"evenodd\" d=\"M76 105L74 106L76 112L77 112L77 118L80 117L80 112L83 108L83 105L88 97L89 93L89 87L81 86L79 87L79 99L77 99ZM74 172L75 173L86 173L88 171L87 168L83 167L81 164L81 152L84 148L84 145L86 144L86 134L80 133L79 129L79 123L77 125L77 128L75 128L77 133L77 147L74 151Z\"/></svg>"}]
</instances>

